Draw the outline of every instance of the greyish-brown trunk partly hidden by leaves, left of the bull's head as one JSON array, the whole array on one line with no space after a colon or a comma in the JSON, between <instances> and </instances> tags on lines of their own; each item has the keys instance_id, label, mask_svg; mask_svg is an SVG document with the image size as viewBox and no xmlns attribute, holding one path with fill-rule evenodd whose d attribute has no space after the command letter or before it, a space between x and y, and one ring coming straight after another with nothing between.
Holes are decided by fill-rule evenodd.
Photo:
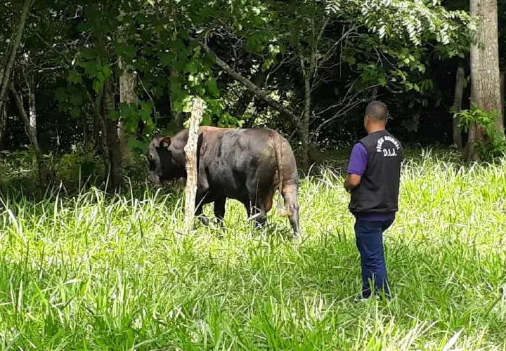
<instances>
[{"instance_id":1,"label":"greyish-brown trunk partly hidden by leaves, left of the bull's head","mask_svg":"<svg viewBox=\"0 0 506 351\"><path fill-rule=\"evenodd\" d=\"M122 74L119 77L119 103L131 104L137 102L137 77L134 73L134 67L125 65L121 58L119 58L119 69ZM127 143L127 135L125 133L125 120L124 116L120 117L118 123L118 138L119 146L121 148L122 159L124 164L131 163L130 150Z\"/></svg>"}]
</instances>

